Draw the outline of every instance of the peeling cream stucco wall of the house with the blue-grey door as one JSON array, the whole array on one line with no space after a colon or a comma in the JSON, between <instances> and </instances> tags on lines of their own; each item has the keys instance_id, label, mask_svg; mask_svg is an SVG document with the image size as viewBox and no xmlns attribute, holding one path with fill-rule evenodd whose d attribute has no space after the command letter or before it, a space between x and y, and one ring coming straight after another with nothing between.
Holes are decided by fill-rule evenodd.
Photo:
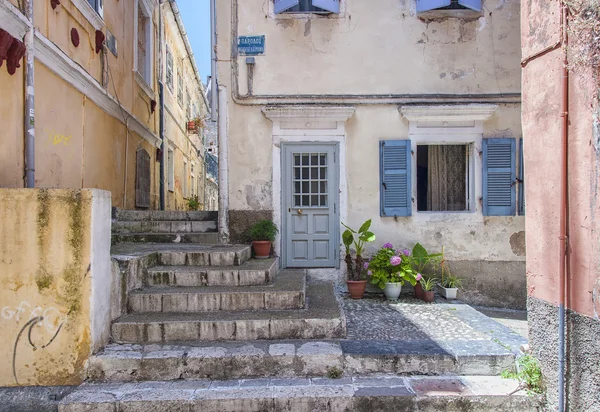
<instances>
[{"instance_id":1,"label":"peeling cream stucco wall of the house with the blue-grey door","mask_svg":"<svg viewBox=\"0 0 600 412\"><path fill-rule=\"evenodd\" d=\"M486 0L484 9L475 17L426 21L408 0L344 1L342 13L329 17L275 16L268 0L219 2L219 82L233 97L230 209L277 208L273 124L261 113L263 107L350 105L356 110L345 125L341 170L348 189L340 196L347 198L351 226L373 219L378 240L372 248L386 241L421 242L434 250L445 246L452 260L524 262L524 217L484 217L479 201L473 213L415 213L397 220L379 216L378 142L410 138L409 122L398 110L403 104L439 104L422 94L480 94L483 102L498 105L483 124L483 138L521 137L519 4ZM233 19L230 10L237 10ZM228 61L236 33L266 36L265 54L255 58L252 96L246 95L245 56ZM498 96L502 93L516 103L506 103L506 95Z\"/></svg>"}]
</instances>

